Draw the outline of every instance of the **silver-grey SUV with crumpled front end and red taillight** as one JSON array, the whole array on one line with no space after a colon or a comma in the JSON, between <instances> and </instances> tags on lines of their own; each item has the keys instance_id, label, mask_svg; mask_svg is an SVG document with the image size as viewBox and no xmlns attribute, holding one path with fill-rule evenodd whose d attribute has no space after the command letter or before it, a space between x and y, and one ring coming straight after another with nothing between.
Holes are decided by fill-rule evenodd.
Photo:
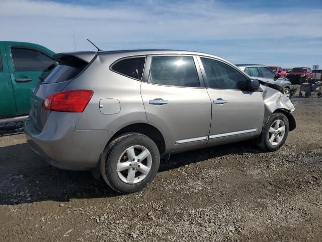
<instances>
[{"instance_id":1,"label":"silver-grey SUV with crumpled front end and red taillight","mask_svg":"<svg viewBox=\"0 0 322 242\"><path fill-rule=\"evenodd\" d=\"M147 186L160 156L242 140L275 151L295 129L285 95L214 55L130 50L55 59L33 90L27 142L50 164L92 170L121 193Z\"/></svg>"}]
</instances>

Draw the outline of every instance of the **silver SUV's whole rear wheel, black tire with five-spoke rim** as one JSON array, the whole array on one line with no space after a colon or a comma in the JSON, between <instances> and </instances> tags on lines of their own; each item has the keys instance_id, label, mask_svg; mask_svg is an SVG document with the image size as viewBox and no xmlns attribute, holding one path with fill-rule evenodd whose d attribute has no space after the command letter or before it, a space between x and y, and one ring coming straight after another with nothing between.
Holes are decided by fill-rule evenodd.
<instances>
[{"instance_id":1,"label":"silver SUV's whole rear wheel, black tire with five-spoke rim","mask_svg":"<svg viewBox=\"0 0 322 242\"><path fill-rule=\"evenodd\" d=\"M134 193L151 183L159 164L159 150L149 137L127 133L109 144L102 176L113 190Z\"/></svg>"}]
</instances>

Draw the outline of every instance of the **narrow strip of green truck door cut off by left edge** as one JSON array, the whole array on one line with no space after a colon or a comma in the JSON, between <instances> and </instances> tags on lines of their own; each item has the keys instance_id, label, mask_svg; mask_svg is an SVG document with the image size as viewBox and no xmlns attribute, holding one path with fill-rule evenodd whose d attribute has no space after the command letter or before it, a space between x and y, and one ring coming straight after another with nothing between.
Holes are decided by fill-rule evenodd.
<instances>
[{"instance_id":1,"label":"narrow strip of green truck door cut off by left edge","mask_svg":"<svg viewBox=\"0 0 322 242\"><path fill-rule=\"evenodd\" d=\"M15 115L15 96L10 79L4 42L0 42L0 97L0 117Z\"/></svg>"}]
</instances>

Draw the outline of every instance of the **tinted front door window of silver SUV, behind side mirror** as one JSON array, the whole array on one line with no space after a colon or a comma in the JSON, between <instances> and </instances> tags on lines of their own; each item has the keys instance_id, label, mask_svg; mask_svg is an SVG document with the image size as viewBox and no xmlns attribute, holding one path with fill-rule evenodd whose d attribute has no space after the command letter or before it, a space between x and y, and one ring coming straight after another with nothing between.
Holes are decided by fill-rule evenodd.
<instances>
[{"instance_id":1,"label":"tinted front door window of silver SUV, behind side mirror","mask_svg":"<svg viewBox=\"0 0 322 242\"><path fill-rule=\"evenodd\" d=\"M228 65L214 59L201 58L206 72L206 85L217 89L241 89L247 78Z\"/></svg>"}]
</instances>

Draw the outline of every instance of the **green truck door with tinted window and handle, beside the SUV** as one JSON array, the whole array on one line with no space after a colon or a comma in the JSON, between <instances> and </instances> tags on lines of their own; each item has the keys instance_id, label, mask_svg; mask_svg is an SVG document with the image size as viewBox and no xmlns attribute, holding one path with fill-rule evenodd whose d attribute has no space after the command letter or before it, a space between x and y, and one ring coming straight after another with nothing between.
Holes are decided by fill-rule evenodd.
<instances>
[{"instance_id":1,"label":"green truck door with tinted window and handle, beside the SUV","mask_svg":"<svg viewBox=\"0 0 322 242\"><path fill-rule=\"evenodd\" d=\"M41 73L53 65L54 60L42 49L25 43L15 45L7 42L6 53L17 113L29 113L31 92Z\"/></svg>"}]
</instances>

